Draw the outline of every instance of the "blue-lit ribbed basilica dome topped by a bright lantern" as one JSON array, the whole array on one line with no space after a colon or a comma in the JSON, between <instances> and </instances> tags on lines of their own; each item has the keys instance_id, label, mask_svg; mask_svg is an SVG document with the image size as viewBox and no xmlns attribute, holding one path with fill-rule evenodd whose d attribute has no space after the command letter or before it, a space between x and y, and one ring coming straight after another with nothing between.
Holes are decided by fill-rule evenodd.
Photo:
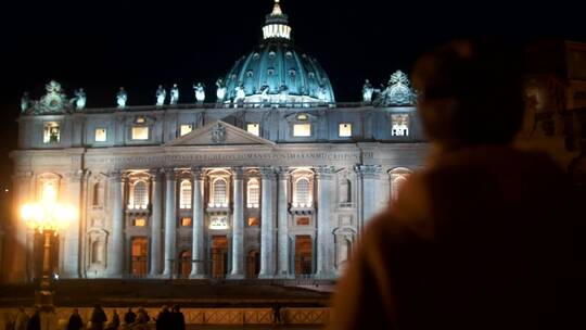
<instances>
[{"instance_id":1,"label":"blue-lit ribbed basilica dome topped by a bright lantern","mask_svg":"<svg viewBox=\"0 0 586 330\"><path fill-rule=\"evenodd\" d=\"M266 17L263 41L239 59L224 79L225 100L252 103L333 103L326 71L293 46L279 1Z\"/></svg>"}]
</instances>

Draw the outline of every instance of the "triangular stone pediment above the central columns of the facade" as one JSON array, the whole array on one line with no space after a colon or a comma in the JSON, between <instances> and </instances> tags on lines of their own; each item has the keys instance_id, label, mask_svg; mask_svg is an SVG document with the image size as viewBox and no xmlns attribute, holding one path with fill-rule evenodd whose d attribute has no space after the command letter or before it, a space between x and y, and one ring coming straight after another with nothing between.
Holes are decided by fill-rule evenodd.
<instances>
[{"instance_id":1,"label":"triangular stone pediment above the central columns of the facade","mask_svg":"<svg viewBox=\"0 0 586 330\"><path fill-rule=\"evenodd\" d=\"M275 145L228 123L217 120L166 143L166 145Z\"/></svg>"}]
</instances>

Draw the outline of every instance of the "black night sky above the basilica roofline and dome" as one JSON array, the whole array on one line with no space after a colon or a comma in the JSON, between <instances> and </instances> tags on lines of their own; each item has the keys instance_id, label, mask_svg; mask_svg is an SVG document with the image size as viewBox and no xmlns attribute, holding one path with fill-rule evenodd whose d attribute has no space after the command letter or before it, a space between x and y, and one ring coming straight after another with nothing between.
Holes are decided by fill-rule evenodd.
<instances>
[{"instance_id":1,"label":"black night sky above the basilica roofline and dome","mask_svg":"<svg viewBox=\"0 0 586 330\"><path fill-rule=\"evenodd\" d=\"M385 82L421 52L454 37L497 35L519 42L586 40L578 8L539 2L282 0L296 46L317 58L337 101L358 101L365 78ZM50 79L88 106L113 105L124 86L129 105L151 104L158 84L213 86L260 38L272 0L20 1L0 13L0 185L10 182L8 152L23 91L38 99ZM582 26L581 26L582 25ZM213 93L213 91L208 92ZM181 101L181 100L180 100Z\"/></svg>"}]
</instances>

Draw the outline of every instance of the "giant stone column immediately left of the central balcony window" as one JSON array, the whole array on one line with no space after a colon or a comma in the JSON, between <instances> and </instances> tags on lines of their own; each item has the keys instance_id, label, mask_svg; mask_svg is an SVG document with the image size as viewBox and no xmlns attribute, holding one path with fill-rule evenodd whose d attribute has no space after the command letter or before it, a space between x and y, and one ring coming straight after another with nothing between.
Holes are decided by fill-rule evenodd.
<instances>
[{"instance_id":1,"label":"giant stone column immediately left of the central balcony window","mask_svg":"<svg viewBox=\"0 0 586 330\"><path fill-rule=\"evenodd\" d=\"M204 253L204 174L202 168L193 167L193 218L192 218L192 248L191 257L193 258L193 266L191 267L191 274L189 278L204 278L205 277L205 253Z\"/></svg>"}]
</instances>

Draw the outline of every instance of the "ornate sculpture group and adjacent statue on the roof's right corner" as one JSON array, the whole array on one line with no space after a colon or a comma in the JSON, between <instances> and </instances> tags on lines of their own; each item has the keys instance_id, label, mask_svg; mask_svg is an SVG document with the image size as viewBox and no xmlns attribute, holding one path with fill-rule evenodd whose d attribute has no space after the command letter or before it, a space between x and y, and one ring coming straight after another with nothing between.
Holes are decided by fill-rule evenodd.
<instances>
[{"instance_id":1,"label":"ornate sculpture group and adjacent statue on the roof's right corner","mask_svg":"<svg viewBox=\"0 0 586 330\"><path fill-rule=\"evenodd\" d=\"M373 88L368 79L362 87L362 102L375 106L412 105L417 92L411 89L409 78L400 69L391 75L388 82L381 88Z\"/></svg>"}]
</instances>

